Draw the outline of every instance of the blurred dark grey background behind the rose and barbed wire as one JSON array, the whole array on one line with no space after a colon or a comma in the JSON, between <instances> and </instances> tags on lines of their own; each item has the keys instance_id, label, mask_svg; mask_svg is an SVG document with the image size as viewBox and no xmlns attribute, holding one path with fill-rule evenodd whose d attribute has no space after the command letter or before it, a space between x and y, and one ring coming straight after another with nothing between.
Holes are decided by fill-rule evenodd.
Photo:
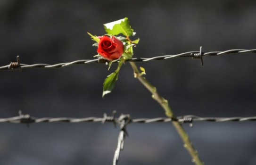
<instances>
[{"instance_id":1,"label":"blurred dark grey background behind the rose and barbed wire","mask_svg":"<svg viewBox=\"0 0 256 165\"><path fill-rule=\"evenodd\" d=\"M134 57L186 51L256 49L255 0L0 0L0 66L93 59L87 34L130 19L139 45ZM138 63L169 100L175 115L256 115L256 55L173 58ZM127 63L113 93L102 99L110 71L103 64L0 72L0 118L164 117ZM184 125L206 165L256 165L256 123ZM119 165L192 165L171 123L130 124ZM111 165L119 129L101 123L0 124L0 165Z\"/></svg>"}]
</instances>

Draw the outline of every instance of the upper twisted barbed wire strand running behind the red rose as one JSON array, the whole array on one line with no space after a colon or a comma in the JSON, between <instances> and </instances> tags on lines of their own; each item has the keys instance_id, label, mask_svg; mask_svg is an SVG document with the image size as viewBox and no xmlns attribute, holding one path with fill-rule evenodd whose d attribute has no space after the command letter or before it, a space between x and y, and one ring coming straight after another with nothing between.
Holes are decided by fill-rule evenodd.
<instances>
[{"instance_id":1,"label":"upper twisted barbed wire strand running behind the red rose","mask_svg":"<svg viewBox=\"0 0 256 165\"><path fill-rule=\"evenodd\" d=\"M175 55L165 55L165 56L157 56L153 58L132 58L127 61L132 62L149 62L149 61L155 61L155 60L165 60L165 59L171 59L171 58L178 58L178 57L185 57L185 58L198 58L201 60L201 64L203 65L203 57L204 56L220 56L225 54L243 54L243 53L256 53L256 49L230 49L225 51L211 51L211 52L203 52L202 47L200 47L199 51L188 51L180 54ZM66 62L66 63L58 63L58 64L22 64L20 63L19 56L17 56L16 62L11 62L10 64L6 66L0 66L0 71L4 70L21 70L21 69L28 69L28 68L64 68L67 66L72 65L79 65L79 64L90 64L90 63L106 63L107 60L99 58L99 59L82 59L82 60L76 60L72 62ZM118 62L118 61L116 61Z\"/></svg>"}]
</instances>

